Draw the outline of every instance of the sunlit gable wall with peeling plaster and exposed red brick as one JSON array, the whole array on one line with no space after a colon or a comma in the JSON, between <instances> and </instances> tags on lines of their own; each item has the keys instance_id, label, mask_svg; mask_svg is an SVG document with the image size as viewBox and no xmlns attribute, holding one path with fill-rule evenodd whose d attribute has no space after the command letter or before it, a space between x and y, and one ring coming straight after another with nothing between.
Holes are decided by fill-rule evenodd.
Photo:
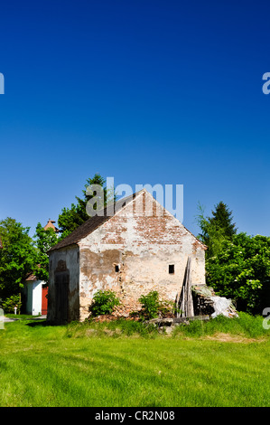
<instances>
[{"instance_id":1,"label":"sunlit gable wall with peeling plaster and exposed red brick","mask_svg":"<svg viewBox=\"0 0 270 425\"><path fill-rule=\"evenodd\" d=\"M81 320L98 289L115 291L126 311L140 307L138 297L150 290L174 301L189 256L192 285L205 284L200 242L147 192L135 201L79 242Z\"/></svg>"}]
</instances>

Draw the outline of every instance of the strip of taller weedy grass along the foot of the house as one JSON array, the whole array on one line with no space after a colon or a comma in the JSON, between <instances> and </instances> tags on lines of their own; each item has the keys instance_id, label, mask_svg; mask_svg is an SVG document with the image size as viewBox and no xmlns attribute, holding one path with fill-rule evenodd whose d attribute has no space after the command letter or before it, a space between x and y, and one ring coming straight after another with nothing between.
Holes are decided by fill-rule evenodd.
<instances>
[{"instance_id":1,"label":"strip of taller weedy grass along the foot of the house","mask_svg":"<svg viewBox=\"0 0 270 425\"><path fill-rule=\"evenodd\" d=\"M67 338L80 338L80 337L107 337L112 336L119 338L121 336L135 336L144 338L156 338L158 336L166 335L172 338L203 338L204 336L212 336L216 334L228 335L242 335L247 338L269 338L270 329L265 329L263 326L263 316L251 316L244 312L239 312L238 317L228 318L219 315L209 320L190 320L189 324L181 324L173 327L173 332L167 334L165 327L160 328L157 324L149 323L144 320L135 320L131 317L116 318L112 320L104 317L102 321L88 319L85 322L72 322L66 326L49 326L46 320L33 318L33 316L15 316L7 315L17 319L14 322L12 330L15 334L24 334L25 324L33 328L36 334L42 333L43 335L59 335ZM8 324L5 324L5 327ZM5 331L4 331L5 332ZM1 334L0 334L1 335Z\"/></svg>"}]
</instances>

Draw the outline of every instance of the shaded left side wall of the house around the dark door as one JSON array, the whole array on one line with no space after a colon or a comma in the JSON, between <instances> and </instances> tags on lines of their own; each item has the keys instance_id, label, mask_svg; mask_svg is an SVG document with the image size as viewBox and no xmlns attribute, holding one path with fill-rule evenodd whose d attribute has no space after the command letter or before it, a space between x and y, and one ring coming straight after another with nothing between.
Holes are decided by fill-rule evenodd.
<instances>
[{"instance_id":1,"label":"shaded left side wall of the house around the dark door","mask_svg":"<svg viewBox=\"0 0 270 425\"><path fill-rule=\"evenodd\" d=\"M69 272L69 321L79 320L79 247L72 245L65 249L53 250L49 253L49 288L48 288L48 315L47 320L56 321L56 288L55 272L65 269Z\"/></svg>"}]
</instances>

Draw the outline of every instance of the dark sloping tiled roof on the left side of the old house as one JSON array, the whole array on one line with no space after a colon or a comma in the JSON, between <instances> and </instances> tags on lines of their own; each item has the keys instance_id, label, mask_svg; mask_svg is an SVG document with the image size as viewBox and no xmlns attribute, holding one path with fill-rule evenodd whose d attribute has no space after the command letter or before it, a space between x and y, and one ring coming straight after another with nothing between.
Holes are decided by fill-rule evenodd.
<instances>
[{"instance_id":1,"label":"dark sloping tiled roof on the left side of the old house","mask_svg":"<svg viewBox=\"0 0 270 425\"><path fill-rule=\"evenodd\" d=\"M51 252L52 250L60 250L61 248L65 248L69 245L78 243L81 239L92 233L92 231L98 229L101 224L107 222L107 220L109 220L113 215L120 211L127 203L133 201L135 199L135 196L141 194L143 191L131 194L129 196L126 196L126 198L122 198L119 201L116 201L116 203L114 203L113 214L110 210L109 215L107 215L107 208L104 208L99 212L100 215L90 217L86 222L82 223L77 229L75 229L75 231L72 231L66 238L64 238L62 241L60 241L59 243L54 245L50 250L48 250L48 252Z\"/></svg>"}]
</instances>

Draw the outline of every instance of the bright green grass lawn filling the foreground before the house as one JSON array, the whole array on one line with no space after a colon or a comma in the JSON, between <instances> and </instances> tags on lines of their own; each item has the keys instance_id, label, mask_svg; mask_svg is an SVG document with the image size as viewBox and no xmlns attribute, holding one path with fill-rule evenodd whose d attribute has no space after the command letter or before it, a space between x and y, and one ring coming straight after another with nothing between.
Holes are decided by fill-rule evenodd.
<instances>
[{"instance_id":1,"label":"bright green grass lawn filling the foreground before the house","mask_svg":"<svg viewBox=\"0 0 270 425\"><path fill-rule=\"evenodd\" d=\"M261 318L179 326L47 326L0 330L0 406L270 406L270 332Z\"/></svg>"}]
</instances>

